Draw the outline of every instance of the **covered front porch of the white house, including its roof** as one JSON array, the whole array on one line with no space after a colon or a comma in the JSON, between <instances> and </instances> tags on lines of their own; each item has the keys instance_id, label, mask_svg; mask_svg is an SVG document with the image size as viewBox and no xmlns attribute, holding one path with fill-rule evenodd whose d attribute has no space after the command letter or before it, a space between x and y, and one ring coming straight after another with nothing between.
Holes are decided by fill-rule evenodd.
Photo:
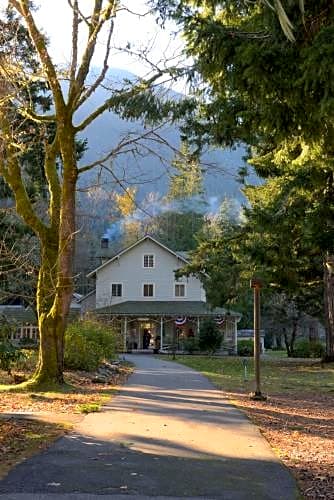
<instances>
[{"instance_id":1,"label":"covered front porch of the white house, including its roof","mask_svg":"<svg viewBox=\"0 0 334 500\"><path fill-rule=\"evenodd\" d=\"M222 330L222 348L237 352L240 314L210 309L205 302L127 301L95 309L94 315L117 329L120 350L124 352L183 351L187 340L199 335L201 322L207 318L214 319Z\"/></svg>"}]
</instances>

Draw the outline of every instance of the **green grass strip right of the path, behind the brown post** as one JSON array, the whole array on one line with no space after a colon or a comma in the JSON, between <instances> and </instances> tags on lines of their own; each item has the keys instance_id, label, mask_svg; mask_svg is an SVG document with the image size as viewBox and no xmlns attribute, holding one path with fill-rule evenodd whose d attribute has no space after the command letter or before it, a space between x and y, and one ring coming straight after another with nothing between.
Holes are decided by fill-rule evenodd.
<instances>
[{"instance_id":1,"label":"green grass strip right of the path, behind the brown post","mask_svg":"<svg viewBox=\"0 0 334 500\"><path fill-rule=\"evenodd\" d=\"M244 377L244 360L247 363L247 380ZM176 361L209 378L225 391L251 392L254 389L253 358L177 356ZM334 367L313 360L266 358L261 361L261 386L264 393L289 393L291 391L334 392Z\"/></svg>"}]
</instances>

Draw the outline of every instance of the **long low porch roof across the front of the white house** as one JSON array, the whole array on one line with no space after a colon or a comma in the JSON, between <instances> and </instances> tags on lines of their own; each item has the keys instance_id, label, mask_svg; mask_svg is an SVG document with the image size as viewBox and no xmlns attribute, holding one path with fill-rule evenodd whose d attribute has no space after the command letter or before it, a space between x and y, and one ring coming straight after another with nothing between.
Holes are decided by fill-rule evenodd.
<instances>
[{"instance_id":1,"label":"long low porch roof across the front of the white house","mask_svg":"<svg viewBox=\"0 0 334 500\"><path fill-rule=\"evenodd\" d=\"M98 316L217 316L240 317L241 314L222 307L211 308L201 301L126 301L93 311Z\"/></svg>"}]
</instances>

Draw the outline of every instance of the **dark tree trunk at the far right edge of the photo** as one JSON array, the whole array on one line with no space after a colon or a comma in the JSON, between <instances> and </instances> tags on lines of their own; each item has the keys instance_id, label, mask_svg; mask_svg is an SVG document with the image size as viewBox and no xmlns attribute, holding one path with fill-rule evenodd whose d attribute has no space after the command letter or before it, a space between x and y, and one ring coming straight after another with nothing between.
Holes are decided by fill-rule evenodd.
<instances>
[{"instance_id":1,"label":"dark tree trunk at the far right edge of the photo","mask_svg":"<svg viewBox=\"0 0 334 500\"><path fill-rule=\"evenodd\" d=\"M325 361L334 361L334 255L324 260L324 303L326 328Z\"/></svg>"}]
</instances>

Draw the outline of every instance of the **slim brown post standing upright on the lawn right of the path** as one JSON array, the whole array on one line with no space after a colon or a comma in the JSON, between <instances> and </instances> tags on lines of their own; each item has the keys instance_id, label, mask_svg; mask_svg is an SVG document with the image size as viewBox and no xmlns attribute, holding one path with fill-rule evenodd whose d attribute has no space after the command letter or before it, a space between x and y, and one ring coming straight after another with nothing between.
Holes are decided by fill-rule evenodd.
<instances>
[{"instance_id":1,"label":"slim brown post standing upright on the lawn right of the path","mask_svg":"<svg viewBox=\"0 0 334 500\"><path fill-rule=\"evenodd\" d=\"M261 393L260 377L260 290L262 281L259 278L252 278L250 287L254 290L254 369L255 369L255 392L250 397L256 401L264 401L265 396Z\"/></svg>"}]
</instances>

